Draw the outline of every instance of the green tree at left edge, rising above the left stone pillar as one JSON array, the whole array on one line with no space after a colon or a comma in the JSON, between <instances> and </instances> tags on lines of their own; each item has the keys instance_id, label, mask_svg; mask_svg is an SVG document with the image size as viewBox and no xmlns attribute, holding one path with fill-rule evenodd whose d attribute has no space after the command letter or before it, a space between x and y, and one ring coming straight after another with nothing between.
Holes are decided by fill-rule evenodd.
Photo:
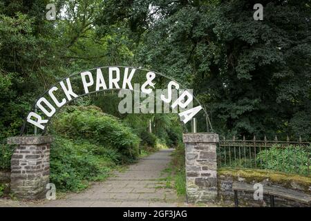
<instances>
[{"instance_id":1,"label":"green tree at left edge, rising above the left stone pillar","mask_svg":"<svg viewBox=\"0 0 311 221\"><path fill-rule=\"evenodd\" d=\"M1 139L19 133L38 91L52 84L54 72L62 73L53 23L41 19L45 7L45 1L0 3Z\"/></svg>"}]
</instances>

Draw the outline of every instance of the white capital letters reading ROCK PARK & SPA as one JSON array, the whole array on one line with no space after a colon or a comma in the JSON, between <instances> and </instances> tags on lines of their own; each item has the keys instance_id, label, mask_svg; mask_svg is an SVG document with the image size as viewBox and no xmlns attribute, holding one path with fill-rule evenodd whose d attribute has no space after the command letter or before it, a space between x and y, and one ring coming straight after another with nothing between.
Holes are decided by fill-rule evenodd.
<instances>
[{"instance_id":1,"label":"white capital letters reading ROCK PARK & SPA","mask_svg":"<svg viewBox=\"0 0 311 221\"><path fill-rule=\"evenodd\" d=\"M137 70L136 68L124 67L122 79L120 75L120 67L112 66L107 68L108 76L103 75L102 68L96 68L96 71L93 73L91 73L91 71L84 71L79 74L78 82L82 83L84 90L82 95L87 95L101 90L133 90L132 79L135 76ZM149 95L155 89L156 83L154 83L154 80L156 78L156 73L148 71L145 77L146 81L144 81L140 87L140 90L142 93ZM105 81L105 78L108 79L108 81ZM162 102L169 104L172 102L172 91L179 89L180 84L173 80L169 81L167 85L167 95L160 95L160 99L162 99ZM62 97L57 99L57 96L55 96L56 92L61 92ZM81 94L78 95L73 90L70 77L59 81L55 84L55 86L48 90L47 94L48 97L39 97L35 103L35 106L39 108L41 114L31 111L28 113L26 119L28 123L40 128L41 130L44 130L49 119L56 113L57 108L61 108L71 100L81 96ZM172 102L171 108L186 108L193 101L193 98L194 97L191 92L189 90L185 90L175 101ZM188 108L186 111L178 113L178 115L180 116L180 120L186 124L200 110L202 110L202 106L196 106L194 108Z\"/></svg>"}]
</instances>

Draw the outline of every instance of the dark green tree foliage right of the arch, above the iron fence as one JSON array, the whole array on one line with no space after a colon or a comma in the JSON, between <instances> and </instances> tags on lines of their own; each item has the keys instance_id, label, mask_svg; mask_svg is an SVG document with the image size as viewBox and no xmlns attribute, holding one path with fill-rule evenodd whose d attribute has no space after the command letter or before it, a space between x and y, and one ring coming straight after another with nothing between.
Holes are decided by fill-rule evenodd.
<instances>
[{"instance_id":1,"label":"dark green tree foliage right of the arch, above the iron fence","mask_svg":"<svg viewBox=\"0 0 311 221\"><path fill-rule=\"evenodd\" d=\"M123 24L139 65L194 88L216 132L310 140L310 1L261 1L263 21L255 3L109 0L96 22Z\"/></svg>"}]
</instances>

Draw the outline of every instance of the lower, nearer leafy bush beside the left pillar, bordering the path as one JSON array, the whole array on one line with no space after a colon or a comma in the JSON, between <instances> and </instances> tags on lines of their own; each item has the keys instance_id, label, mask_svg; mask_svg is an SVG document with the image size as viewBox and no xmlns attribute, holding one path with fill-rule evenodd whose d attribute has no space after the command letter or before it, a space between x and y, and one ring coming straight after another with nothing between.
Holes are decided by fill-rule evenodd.
<instances>
[{"instance_id":1,"label":"lower, nearer leafy bush beside the left pillar, bordering the path","mask_svg":"<svg viewBox=\"0 0 311 221\"><path fill-rule=\"evenodd\" d=\"M50 151L50 181L61 191L86 188L86 181L108 176L117 162L115 150L63 137L55 137Z\"/></svg>"}]
</instances>

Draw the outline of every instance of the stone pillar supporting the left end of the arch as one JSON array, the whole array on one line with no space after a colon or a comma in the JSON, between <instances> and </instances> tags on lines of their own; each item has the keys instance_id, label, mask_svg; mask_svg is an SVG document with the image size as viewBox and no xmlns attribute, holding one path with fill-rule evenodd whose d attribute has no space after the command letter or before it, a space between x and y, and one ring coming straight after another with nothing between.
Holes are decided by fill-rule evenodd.
<instances>
[{"instance_id":1,"label":"stone pillar supporting the left end of the arch","mask_svg":"<svg viewBox=\"0 0 311 221\"><path fill-rule=\"evenodd\" d=\"M8 144L17 144L11 158L10 188L17 198L35 200L46 197L50 179L49 136L9 137Z\"/></svg>"}]
</instances>

